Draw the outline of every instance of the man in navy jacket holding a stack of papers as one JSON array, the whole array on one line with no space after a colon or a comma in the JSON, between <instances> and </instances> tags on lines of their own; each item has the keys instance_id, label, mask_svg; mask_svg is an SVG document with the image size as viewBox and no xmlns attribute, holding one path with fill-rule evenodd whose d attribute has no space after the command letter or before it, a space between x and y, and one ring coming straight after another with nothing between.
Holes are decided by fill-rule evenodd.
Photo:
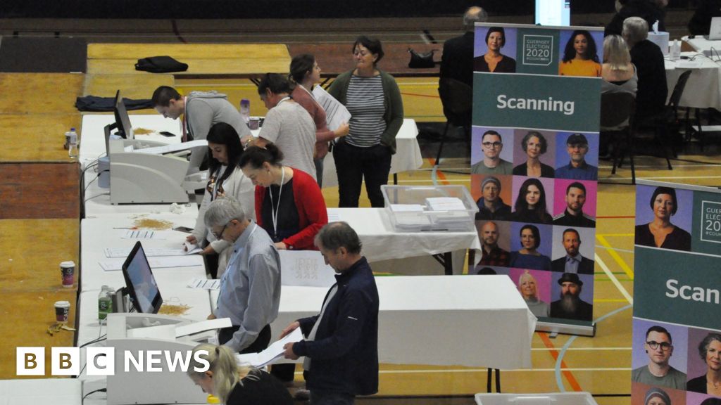
<instances>
[{"instance_id":1,"label":"man in navy jacket holding a stack of papers","mask_svg":"<svg viewBox=\"0 0 721 405\"><path fill-rule=\"evenodd\" d=\"M338 274L320 314L298 319L281 337L301 328L305 340L287 343L285 357L305 356L311 405L353 404L378 392L378 288L361 240L345 222L324 226L315 238L326 264Z\"/></svg>"}]
</instances>

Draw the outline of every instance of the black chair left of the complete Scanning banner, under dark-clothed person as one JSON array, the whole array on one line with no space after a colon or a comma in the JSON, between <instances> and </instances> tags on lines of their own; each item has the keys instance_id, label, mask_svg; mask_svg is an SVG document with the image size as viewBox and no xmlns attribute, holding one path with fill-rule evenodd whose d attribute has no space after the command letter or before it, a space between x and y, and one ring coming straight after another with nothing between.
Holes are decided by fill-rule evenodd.
<instances>
[{"instance_id":1,"label":"black chair left of the complete Scanning banner, under dark-clothed person","mask_svg":"<svg viewBox=\"0 0 721 405\"><path fill-rule=\"evenodd\" d=\"M443 152L443 143L446 143L448 127L451 125L454 128L462 127L466 134L470 133L473 89L462 81L443 77L438 81L438 95L441 96L443 115L446 115L446 129L443 130L441 145L438 146L438 155L435 156L435 166L441 163L441 153Z\"/></svg>"}]
</instances>

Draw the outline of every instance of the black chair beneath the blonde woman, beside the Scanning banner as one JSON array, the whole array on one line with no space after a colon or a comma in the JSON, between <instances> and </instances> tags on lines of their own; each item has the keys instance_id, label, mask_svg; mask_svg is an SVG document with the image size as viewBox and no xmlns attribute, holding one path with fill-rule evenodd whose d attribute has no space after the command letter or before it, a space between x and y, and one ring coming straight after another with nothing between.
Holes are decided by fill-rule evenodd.
<instances>
[{"instance_id":1,"label":"black chair beneath the blonde woman, beside the Scanning banner","mask_svg":"<svg viewBox=\"0 0 721 405\"><path fill-rule=\"evenodd\" d=\"M636 110L636 96L632 93L601 94L601 143L613 149L614 167L611 174L616 174L616 167L621 166L619 156L628 150L631 160L632 184L636 184L636 168L634 166L634 145L632 139L633 115Z\"/></svg>"}]
</instances>

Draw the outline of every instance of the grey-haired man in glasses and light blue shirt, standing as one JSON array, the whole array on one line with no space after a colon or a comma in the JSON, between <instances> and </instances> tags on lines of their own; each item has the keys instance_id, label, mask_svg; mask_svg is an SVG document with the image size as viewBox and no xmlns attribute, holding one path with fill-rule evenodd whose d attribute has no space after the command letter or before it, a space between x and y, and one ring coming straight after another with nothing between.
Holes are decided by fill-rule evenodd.
<instances>
[{"instance_id":1,"label":"grey-haired man in glasses and light blue shirt, standing","mask_svg":"<svg viewBox=\"0 0 721 405\"><path fill-rule=\"evenodd\" d=\"M270 323L278 316L278 251L265 230L245 218L240 203L232 197L213 201L203 219L217 239L233 244L217 308L208 319L231 319L233 326L218 333L220 344L236 352L260 352L270 342Z\"/></svg>"}]
</instances>

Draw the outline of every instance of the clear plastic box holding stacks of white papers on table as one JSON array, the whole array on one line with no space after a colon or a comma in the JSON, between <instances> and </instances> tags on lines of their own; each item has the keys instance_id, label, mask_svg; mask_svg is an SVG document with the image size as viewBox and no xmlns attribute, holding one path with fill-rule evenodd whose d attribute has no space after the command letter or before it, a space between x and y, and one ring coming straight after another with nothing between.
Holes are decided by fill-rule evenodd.
<instances>
[{"instance_id":1,"label":"clear plastic box holding stacks of white papers on table","mask_svg":"<svg viewBox=\"0 0 721 405\"><path fill-rule=\"evenodd\" d=\"M478 207L464 186L381 186L397 232L474 231Z\"/></svg>"}]
</instances>

